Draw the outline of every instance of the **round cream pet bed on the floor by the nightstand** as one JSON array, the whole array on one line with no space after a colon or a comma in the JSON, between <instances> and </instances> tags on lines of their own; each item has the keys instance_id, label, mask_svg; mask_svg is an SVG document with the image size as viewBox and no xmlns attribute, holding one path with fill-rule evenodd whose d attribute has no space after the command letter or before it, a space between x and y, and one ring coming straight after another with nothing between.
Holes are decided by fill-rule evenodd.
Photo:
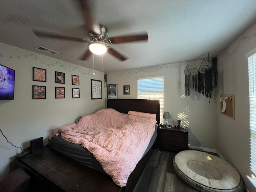
<instances>
[{"instance_id":1,"label":"round cream pet bed on the floor by the nightstand","mask_svg":"<svg viewBox=\"0 0 256 192\"><path fill-rule=\"evenodd\" d=\"M176 173L201 192L243 192L238 171L221 158L196 150L179 152L173 159Z\"/></svg>"}]
</instances>

